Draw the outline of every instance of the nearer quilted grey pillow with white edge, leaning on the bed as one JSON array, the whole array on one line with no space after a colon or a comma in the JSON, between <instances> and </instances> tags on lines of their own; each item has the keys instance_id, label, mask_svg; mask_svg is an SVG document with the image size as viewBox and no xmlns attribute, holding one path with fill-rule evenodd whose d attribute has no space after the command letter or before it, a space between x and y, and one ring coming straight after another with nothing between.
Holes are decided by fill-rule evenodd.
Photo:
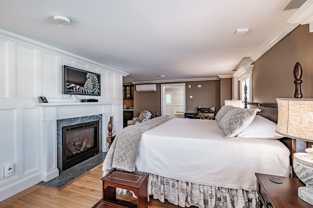
<instances>
[{"instance_id":1,"label":"nearer quilted grey pillow with white edge, leaning on the bed","mask_svg":"<svg viewBox=\"0 0 313 208\"><path fill-rule=\"evenodd\" d=\"M228 111L218 123L224 130L224 138L235 137L243 132L252 123L255 114L260 111L258 108L234 108Z\"/></svg>"}]
</instances>

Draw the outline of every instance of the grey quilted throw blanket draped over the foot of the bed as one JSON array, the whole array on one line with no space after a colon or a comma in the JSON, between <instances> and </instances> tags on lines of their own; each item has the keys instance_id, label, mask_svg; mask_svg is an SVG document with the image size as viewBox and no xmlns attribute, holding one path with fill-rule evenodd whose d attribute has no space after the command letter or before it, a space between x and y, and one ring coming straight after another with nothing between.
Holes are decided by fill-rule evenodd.
<instances>
[{"instance_id":1,"label":"grey quilted throw blanket draped over the foot of the bed","mask_svg":"<svg viewBox=\"0 0 313 208\"><path fill-rule=\"evenodd\" d=\"M106 175L112 168L133 172L136 168L136 159L142 133L172 118L174 117L156 117L143 123L128 126L119 132L115 136L103 161L103 175Z\"/></svg>"}]
</instances>

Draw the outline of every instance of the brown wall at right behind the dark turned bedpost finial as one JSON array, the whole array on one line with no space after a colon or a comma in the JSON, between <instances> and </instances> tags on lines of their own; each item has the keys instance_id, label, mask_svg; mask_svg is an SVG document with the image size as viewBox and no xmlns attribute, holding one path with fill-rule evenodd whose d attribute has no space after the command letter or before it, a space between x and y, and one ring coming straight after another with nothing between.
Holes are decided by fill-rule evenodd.
<instances>
[{"instance_id":1,"label":"brown wall at right behind the dark turned bedpost finial","mask_svg":"<svg viewBox=\"0 0 313 208\"><path fill-rule=\"evenodd\" d=\"M254 62L252 84L254 102L276 102L275 98L293 98L293 68L303 69L303 98L313 97L313 33L309 25L300 25Z\"/></svg>"}]
</instances>

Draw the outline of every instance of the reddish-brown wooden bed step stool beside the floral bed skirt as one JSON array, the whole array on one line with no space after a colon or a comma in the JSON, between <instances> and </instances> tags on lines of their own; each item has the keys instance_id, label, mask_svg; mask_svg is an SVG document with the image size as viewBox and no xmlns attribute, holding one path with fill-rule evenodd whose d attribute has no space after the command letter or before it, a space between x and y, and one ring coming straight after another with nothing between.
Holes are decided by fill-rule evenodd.
<instances>
[{"instance_id":1,"label":"reddish-brown wooden bed step stool beside the floral bed skirt","mask_svg":"<svg viewBox=\"0 0 313 208\"><path fill-rule=\"evenodd\" d=\"M148 208L148 175L112 170L102 180L102 199L92 208ZM137 203L116 199L116 188L134 192Z\"/></svg>"}]
</instances>

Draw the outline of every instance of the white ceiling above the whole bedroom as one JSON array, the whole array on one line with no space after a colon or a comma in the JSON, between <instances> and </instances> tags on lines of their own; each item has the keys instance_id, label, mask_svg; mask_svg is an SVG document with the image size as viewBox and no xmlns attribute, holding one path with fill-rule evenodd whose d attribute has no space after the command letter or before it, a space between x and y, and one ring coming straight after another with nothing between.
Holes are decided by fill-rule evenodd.
<instances>
[{"instance_id":1,"label":"white ceiling above the whole bedroom","mask_svg":"<svg viewBox=\"0 0 313 208\"><path fill-rule=\"evenodd\" d=\"M195 79L260 57L304 1L0 0L0 28L128 73L124 83Z\"/></svg>"}]
</instances>

